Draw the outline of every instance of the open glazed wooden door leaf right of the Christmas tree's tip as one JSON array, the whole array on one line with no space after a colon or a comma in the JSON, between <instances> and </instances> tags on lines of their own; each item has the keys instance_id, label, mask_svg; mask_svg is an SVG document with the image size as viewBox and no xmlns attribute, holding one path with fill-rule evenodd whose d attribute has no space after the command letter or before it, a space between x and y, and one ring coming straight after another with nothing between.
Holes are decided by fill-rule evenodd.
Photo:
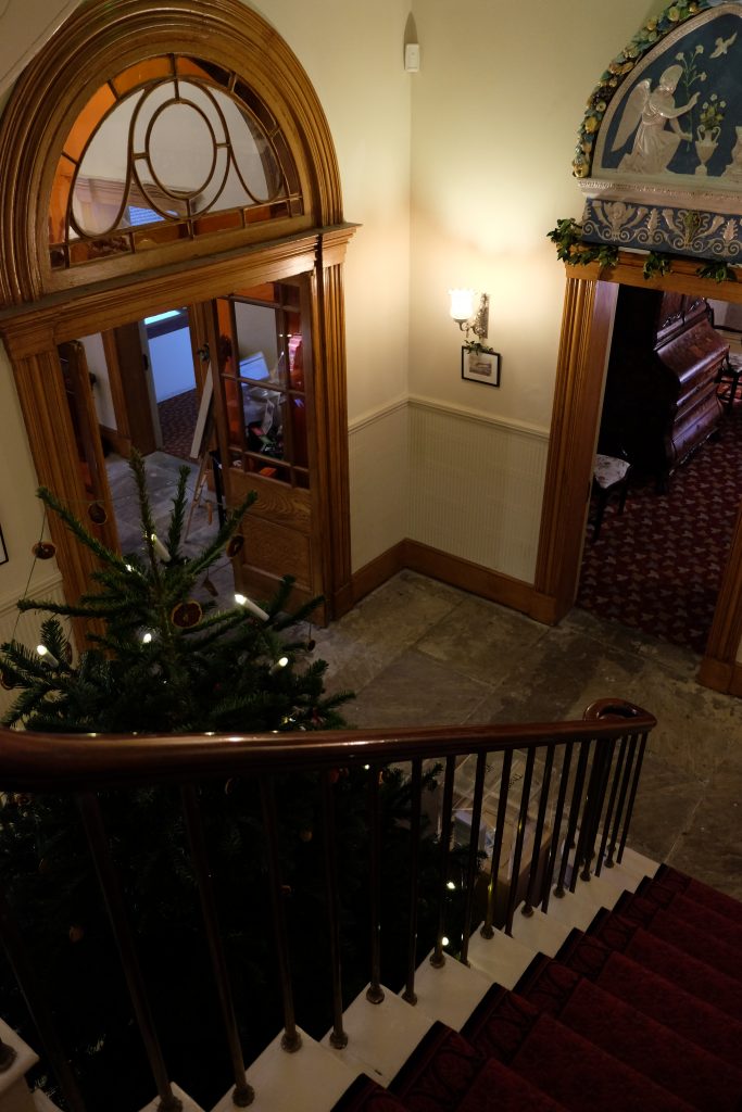
<instances>
[{"instance_id":1,"label":"open glazed wooden door leaf right of the Christmas tree's tip","mask_svg":"<svg viewBox=\"0 0 742 1112\"><path fill-rule=\"evenodd\" d=\"M235 582L270 598L284 575L294 604L323 592L320 505L314 480L311 344L303 279L267 282L215 302L215 416L227 503L257 502L235 558ZM324 620L324 612L316 613Z\"/></svg>"}]
</instances>

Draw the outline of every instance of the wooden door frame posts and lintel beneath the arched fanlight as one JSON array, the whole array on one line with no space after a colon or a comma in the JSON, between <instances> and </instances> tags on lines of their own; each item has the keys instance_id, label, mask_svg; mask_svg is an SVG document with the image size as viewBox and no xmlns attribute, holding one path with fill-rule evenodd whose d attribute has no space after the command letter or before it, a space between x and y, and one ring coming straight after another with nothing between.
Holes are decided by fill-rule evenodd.
<instances>
[{"instance_id":1,"label":"wooden door frame posts and lintel beneath the arched fanlight","mask_svg":"<svg viewBox=\"0 0 742 1112\"><path fill-rule=\"evenodd\" d=\"M342 268L354 226L317 231L290 244L267 244L236 258L214 258L171 272L129 278L105 291L78 292L60 305L56 297L32 307L0 312L0 335L10 355L31 454L41 485L75 507L89 499L79 477L75 437L57 353L77 339L175 304L206 301L238 287L310 275L315 353L321 351L316 399L318 497L325 530L325 594L330 616L350 608L349 478L345 344L342 329ZM315 358L317 358L315 354ZM328 401L329 399L329 401ZM112 507L109 507L112 513ZM49 522L69 599L89 587L95 558L52 517Z\"/></svg>"}]
</instances>

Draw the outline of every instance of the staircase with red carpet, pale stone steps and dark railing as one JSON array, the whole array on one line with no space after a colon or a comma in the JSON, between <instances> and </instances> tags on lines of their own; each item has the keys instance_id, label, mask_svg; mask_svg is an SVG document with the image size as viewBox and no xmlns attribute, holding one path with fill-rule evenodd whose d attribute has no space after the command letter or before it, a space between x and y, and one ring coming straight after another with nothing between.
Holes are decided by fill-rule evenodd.
<instances>
[{"instance_id":1,"label":"staircase with red carpet, pale stone steps and dark railing","mask_svg":"<svg viewBox=\"0 0 742 1112\"><path fill-rule=\"evenodd\" d=\"M652 725L645 712L604 701L582 723L394 736L136 738L111 746L105 738L3 732L0 784L59 791L66 776L77 793L159 1093L142 1112L205 1110L168 1080L93 787L164 778L182 784L233 1060L234 1083L227 1090L225 1079L227 1091L209 1112L248 1105L256 1112L731 1112L742 1108L742 904L627 848ZM467 755L472 775L462 780ZM434 802L439 925L421 961L417 851L421 812L431 806L421 792L427 759L443 762L445 771ZM368 770L369 983L346 1005L333 793L338 763L354 761ZM379 784L394 762L410 768L410 810L400 820L409 833L409 966L406 984L388 987L380 982L378 897L389 862L379 852ZM266 788L274 770L289 766L318 770L324 808L334 1022L318 1040L295 1016L286 885ZM263 783L284 1012L284 1030L247 1069L192 786L204 776L235 775ZM462 783L464 796L455 791ZM455 887L451 853L467 830L479 837L468 836L464 846L463 915L449 942L443 907L445 890ZM65 1032L56 1030L53 1007L34 984L31 955L2 892L0 934L65 1093L60 1105L99 1112L80 1096ZM4 1024L0 1040L0 1112L55 1112L46 1093L26 1085L36 1055Z\"/></svg>"}]
</instances>

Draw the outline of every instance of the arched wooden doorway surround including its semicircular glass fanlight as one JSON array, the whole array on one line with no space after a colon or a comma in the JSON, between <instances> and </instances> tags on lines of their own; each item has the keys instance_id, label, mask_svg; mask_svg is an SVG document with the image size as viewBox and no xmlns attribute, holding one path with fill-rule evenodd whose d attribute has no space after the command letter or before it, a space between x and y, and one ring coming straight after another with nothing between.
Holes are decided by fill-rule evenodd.
<instances>
[{"instance_id":1,"label":"arched wooden doorway surround including its semicircular glass fanlight","mask_svg":"<svg viewBox=\"0 0 742 1112\"><path fill-rule=\"evenodd\" d=\"M148 42L157 56L142 54ZM164 113L171 126L147 130ZM60 344L299 281L314 368L307 586L324 594L327 617L344 613L352 589L342 271L355 228L344 221L332 136L298 59L239 0L205 0L198 11L135 0L113 26L106 0L91 0L26 69L0 143L0 332L39 480L69 505L90 498ZM145 225L135 219L140 210ZM214 355L218 321L199 312L198 347ZM300 464L290 467L298 477ZM270 488L277 499L285 486ZM95 560L51 528L73 602Z\"/></svg>"}]
</instances>

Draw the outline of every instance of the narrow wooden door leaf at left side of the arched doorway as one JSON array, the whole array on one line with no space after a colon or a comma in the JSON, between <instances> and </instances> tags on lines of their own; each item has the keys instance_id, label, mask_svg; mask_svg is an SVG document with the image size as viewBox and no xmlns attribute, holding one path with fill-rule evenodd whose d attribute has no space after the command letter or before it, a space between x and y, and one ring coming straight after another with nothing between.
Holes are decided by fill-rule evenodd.
<instances>
[{"instance_id":1,"label":"narrow wooden door leaf at left side of the arched doorway","mask_svg":"<svg viewBox=\"0 0 742 1112\"><path fill-rule=\"evenodd\" d=\"M92 527L93 534L105 545L118 549L118 533L85 347L79 340L68 340L66 344L59 345L58 351L75 431L79 474L89 499L85 512L80 506L70 508L88 528L91 525L95 526Z\"/></svg>"}]
</instances>

